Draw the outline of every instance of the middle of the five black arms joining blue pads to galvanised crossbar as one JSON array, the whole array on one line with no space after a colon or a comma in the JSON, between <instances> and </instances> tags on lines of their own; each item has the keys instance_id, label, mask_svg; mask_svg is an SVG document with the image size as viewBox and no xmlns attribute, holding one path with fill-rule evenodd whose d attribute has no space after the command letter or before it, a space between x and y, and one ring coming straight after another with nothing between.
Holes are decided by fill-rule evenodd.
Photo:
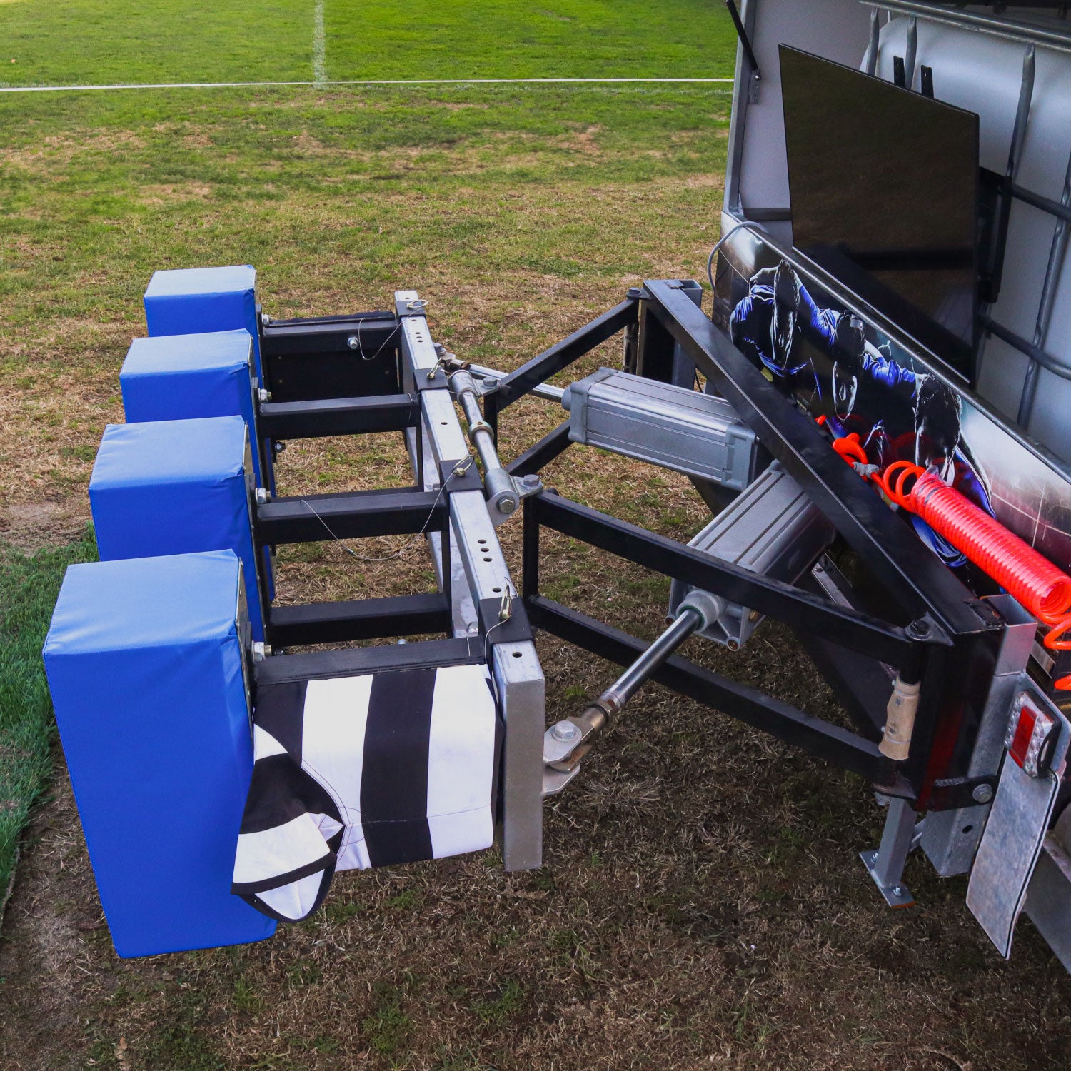
<instances>
[{"instance_id":1,"label":"middle of the five black arms joining blue pads to galvanised crossbar","mask_svg":"<svg viewBox=\"0 0 1071 1071\"><path fill-rule=\"evenodd\" d=\"M276 498L257 506L253 524L263 545L322 543L331 539L420 534L446 531L447 496L435 491L336 495L330 498Z\"/></svg>"}]
</instances>

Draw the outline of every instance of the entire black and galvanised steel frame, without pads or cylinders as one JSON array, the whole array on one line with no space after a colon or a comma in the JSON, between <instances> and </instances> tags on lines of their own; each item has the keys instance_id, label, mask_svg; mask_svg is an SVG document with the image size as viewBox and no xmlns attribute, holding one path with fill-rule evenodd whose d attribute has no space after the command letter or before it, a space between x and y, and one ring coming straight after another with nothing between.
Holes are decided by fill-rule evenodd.
<instances>
[{"instance_id":1,"label":"entire black and galvanised steel frame, without pads or cylinders","mask_svg":"<svg viewBox=\"0 0 1071 1071\"><path fill-rule=\"evenodd\" d=\"M269 643L278 649L435 631L446 631L452 638L274 655L257 666L258 679L361 672L386 662L411 665L479 658L482 650L473 640L489 638L507 708L503 846L509 869L537 865L540 860L541 791L532 756L540 745L533 725L543 685L525 618L621 665L648 648L640 639L540 594L541 528L783 621L843 699L856 731L684 659L669 658L652 666L650 679L863 776L886 797L909 803L912 812L977 812L996 788L998 756L979 770L975 745L993 706L995 682L1007 683L1006 639L1009 628L1021 625L1021 619L1007 601L972 595L918 540L905 538L903 522L829 448L813 422L699 311L695 290L694 283L648 282L515 372L488 376L482 387L485 421L497 432L500 414L513 402L540 392L552 376L623 332L625 367L642 377L690 382L693 368L703 373L710 389L733 406L761 448L835 526L881 591L883 613L862 608L828 557L808 573L802 586L796 586L533 484L523 492L523 599L513 605L509 632L496 630L496 635L491 630L500 623L508 572L474 470L448 479L467 456L467 448L448 389L449 365L440 360L441 347L436 351L423 302L406 291L397 296L393 313L262 319L267 393L261 393L257 426L267 449L277 451L286 438L403 431L417 482L402 492L317 497L316 514L299 499L262 502L256 510L257 540L278 544L427 531L442 588L439 595L273 607L267 617ZM565 421L508 465L507 471L517 480L534 477L570 441ZM440 494L443 480L446 494ZM708 501L718 501L722 488L695 482ZM1006 617L1001 606L1012 616ZM510 636L516 640L506 643ZM892 689L887 667L902 681L920 684L910 753L904 761L893 761L878 750ZM1021 668L1012 673L1016 680ZM525 698L517 698L522 695ZM976 843L977 839L971 848ZM899 880L899 873L895 877Z\"/></svg>"}]
</instances>

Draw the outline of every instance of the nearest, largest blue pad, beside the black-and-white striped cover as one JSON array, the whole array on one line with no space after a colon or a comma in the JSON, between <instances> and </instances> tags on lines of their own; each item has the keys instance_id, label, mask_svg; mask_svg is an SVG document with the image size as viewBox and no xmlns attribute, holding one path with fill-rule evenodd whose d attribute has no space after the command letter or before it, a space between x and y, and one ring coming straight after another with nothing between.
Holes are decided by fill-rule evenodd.
<instances>
[{"instance_id":1,"label":"nearest, largest blue pad, beside the black-and-white striped cover","mask_svg":"<svg viewBox=\"0 0 1071 1071\"><path fill-rule=\"evenodd\" d=\"M44 660L116 951L270 937L230 894L253 769L230 550L72 565Z\"/></svg>"}]
</instances>

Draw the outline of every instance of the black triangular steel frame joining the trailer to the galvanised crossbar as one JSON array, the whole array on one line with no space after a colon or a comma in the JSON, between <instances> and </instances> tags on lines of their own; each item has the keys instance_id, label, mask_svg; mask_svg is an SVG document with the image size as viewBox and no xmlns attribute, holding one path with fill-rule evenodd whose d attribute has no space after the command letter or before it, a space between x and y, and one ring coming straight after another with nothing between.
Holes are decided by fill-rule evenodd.
<instances>
[{"instance_id":1,"label":"black triangular steel frame joining the trailer to the galvanised crossbar","mask_svg":"<svg viewBox=\"0 0 1071 1071\"><path fill-rule=\"evenodd\" d=\"M522 394L622 328L638 328L635 365L640 375L665 378L669 355L679 347L838 528L880 586L883 614L713 561L674 540L543 492L525 502L523 595L532 624L619 664L632 662L647 646L540 594L542 528L750 606L796 631L818 668L845 696L859 731L814 718L682 658L670 659L654 679L851 770L890 795L910 799L920 810L969 805L975 788L995 780L968 776L967 764L1006 623L909 533L829 448L813 421L702 313L690 289L677 281L647 282L643 290L630 292L620 305L501 380L504 389L485 399L488 411L497 418ZM561 424L517 457L510 471L538 472L568 447L568 424ZM904 763L892 763L877 748L891 691L885 666L905 681L922 683L910 755Z\"/></svg>"}]
</instances>

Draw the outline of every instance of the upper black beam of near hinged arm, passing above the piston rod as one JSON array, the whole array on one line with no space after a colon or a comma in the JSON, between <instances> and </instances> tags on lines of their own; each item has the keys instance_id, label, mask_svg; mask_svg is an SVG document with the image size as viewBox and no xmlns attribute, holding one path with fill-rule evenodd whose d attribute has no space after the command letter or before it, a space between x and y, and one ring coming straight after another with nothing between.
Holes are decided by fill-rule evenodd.
<instances>
[{"instance_id":1,"label":"upper black beam of near hinged arm, passing above the piston rod","mask_svg":"<svg viewBox=\"0 0 1071 1071\"><path fill-rule=\"evenodd\" d=\"M844 462L841 465L847 469ZM528 499L526 508L547 528L756 609L784 621L791 629L816 632L842 647L894 666L916 664L919 660L922 645L896 625L847 606L838 606L790 584L731 565L561 495L543 492ZM948 640L932 634L930 643L947 644Z\"/></svg>"}]
</instances>

